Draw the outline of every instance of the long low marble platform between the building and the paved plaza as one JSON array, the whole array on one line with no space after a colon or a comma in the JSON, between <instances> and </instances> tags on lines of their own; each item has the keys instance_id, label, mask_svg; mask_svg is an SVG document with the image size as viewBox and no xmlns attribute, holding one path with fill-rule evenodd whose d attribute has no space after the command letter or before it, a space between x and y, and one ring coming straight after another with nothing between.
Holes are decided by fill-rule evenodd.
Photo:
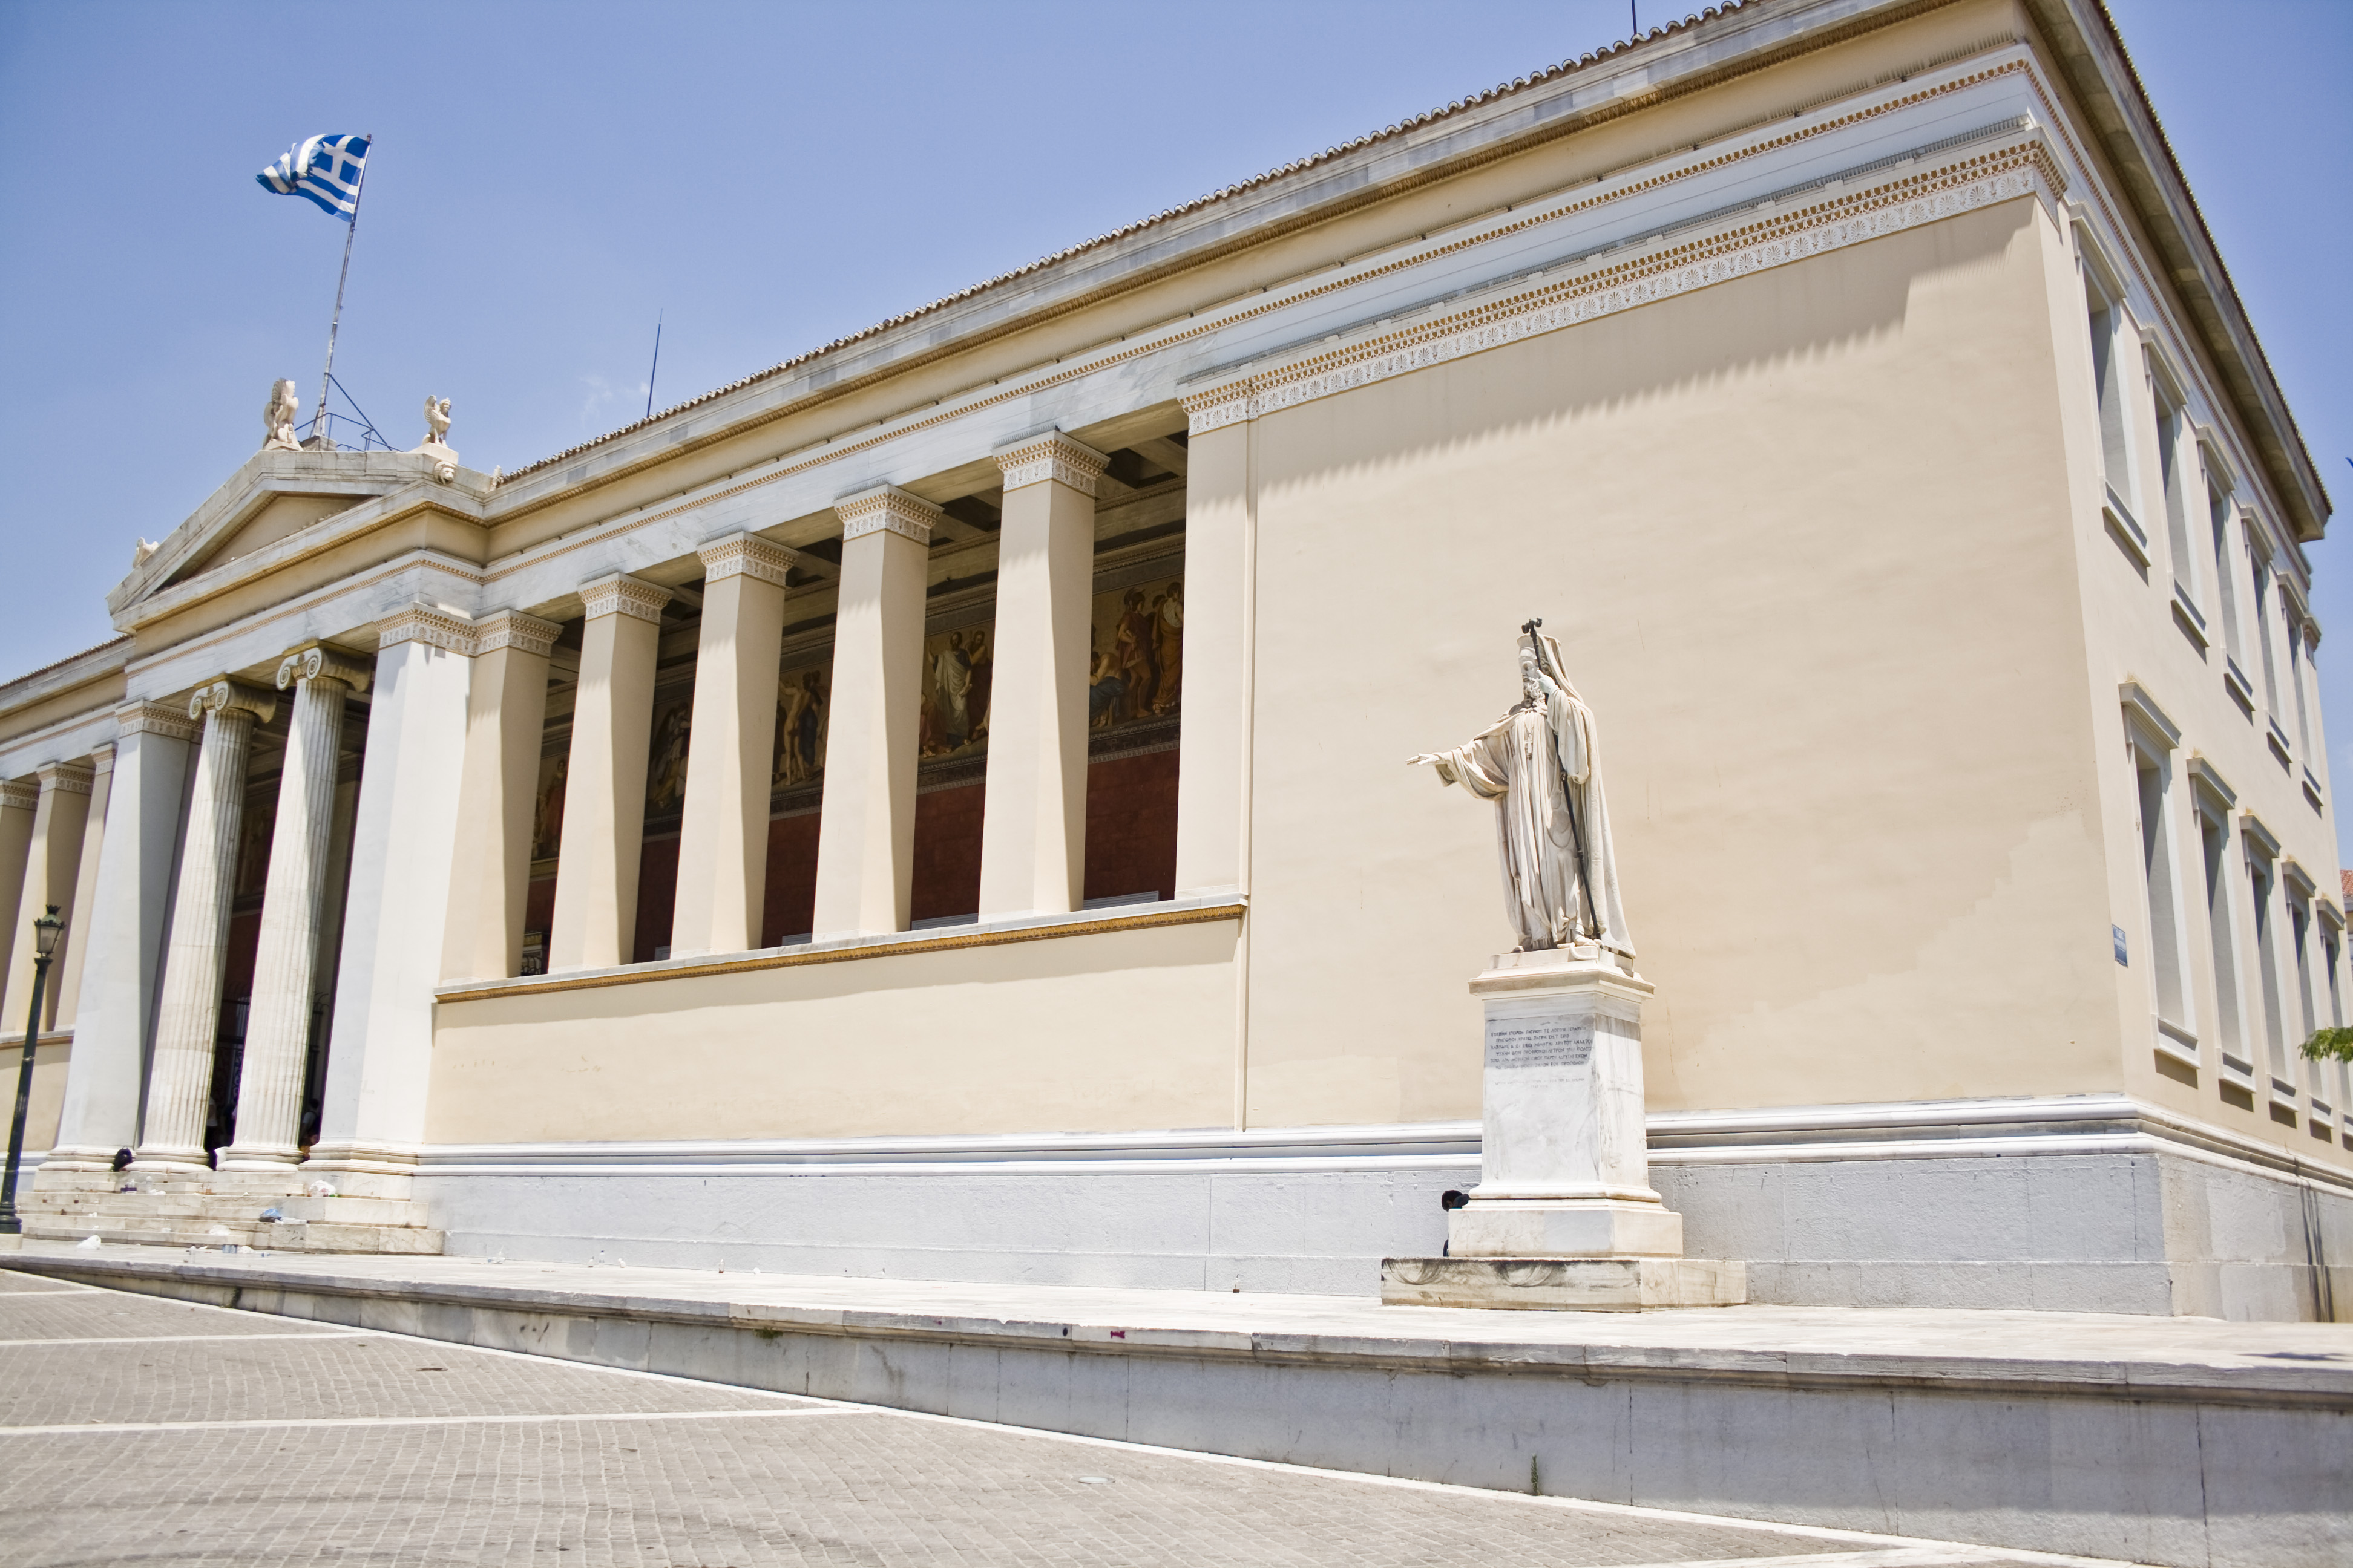
<instances>
[{"instance_id":1,"label":"long low marble platform between the building and the paved plaza","mask_svg":"<svg viewBox=\"0 0 2353 1568\"><path fill-rule=\"evenodd\" d=\"M2353 1561L2353 1328L1369 1298L28 1241L5 1267L1202 1453L2179 1568ZM5 1298L0 1298L5 1300ZM5 1309L5 1307L0 1307Z\"/></svg>"}]
</instances>

